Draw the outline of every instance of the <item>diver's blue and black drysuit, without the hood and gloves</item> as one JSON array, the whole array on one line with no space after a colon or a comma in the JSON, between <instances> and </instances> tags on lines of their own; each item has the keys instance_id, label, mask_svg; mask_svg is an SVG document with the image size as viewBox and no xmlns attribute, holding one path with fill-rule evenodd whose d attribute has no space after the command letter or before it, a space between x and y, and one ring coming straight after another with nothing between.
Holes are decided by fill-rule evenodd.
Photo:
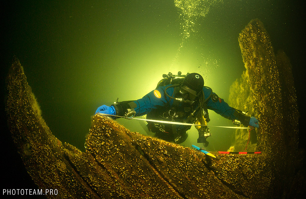
<instances>
[{"instance_id":1,"label":"diver's blue and black drysuit, without the hood and gloves","mask_svg":"<svg viewBox=\"0 0 306 199\"><path fill-rule=\"evenodd\" d=\"M168 95L165 94L165 89ZM204 97L205 100L207 99L207 101L206 104L201 102L201 105L200 99L203 101L202 95L198 99L195 98L196 100L193 103L191 103L192 101L188 102L184 100L179 101L172 99L184 97L186 93L184 94L178 92L180 89L180 87L174 87L171 84L160 86L141 99L113 104L112 107L115 107L116 111L114 111L113 108L111 108L111 110L118 116L123 116L126 113L125 111L128 109L134 109L136 112L134 116L142 116L147 114L148 120L193 123L197 119L202 120L202 118L197 118L199 113L203 112L203 110L206 112L207 109L210 109L227 119L236 119L241 121L243 125L249 125L249 116L245 116L236 109L230 107L226 102L224 102L223 99L219 98L218 95L213 93L210 88L203 87ZM189 97L191 97L190 94ZM99 108L97 111L100 110ZM104 108L101 108L101 110L104 111ZM206 121L209 119L207 116L208 114L204 113ZM176 143L184 142L188 137L186 132L191 128L190 125L172 125L152 121L148 121L147 127L151 132L155 133L156 137L162 138L166 141L179 139L179 142Z\"/></svg>"}]
</instances>

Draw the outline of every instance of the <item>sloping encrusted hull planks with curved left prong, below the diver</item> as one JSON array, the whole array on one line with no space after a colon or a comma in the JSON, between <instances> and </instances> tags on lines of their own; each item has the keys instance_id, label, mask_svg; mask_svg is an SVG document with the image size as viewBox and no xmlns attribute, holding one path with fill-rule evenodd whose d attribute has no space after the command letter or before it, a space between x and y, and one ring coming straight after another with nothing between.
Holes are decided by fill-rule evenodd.
<instances>
[{"instance_id":1,"label":"sloping encrusted hull planks with curved left prong, below the diver","mask_svg":"<svg viewBox=\"0 0 306 199\"><path fill-rule=\"evenodd\" d=\"M17 59L7 88L12 137L38 187L57 189L49 198L261 198L268 193L266 186L260 192L252 188L259 181L270 183L269 177L262 179L271 176L266 155L212 160L99 115L92 118L87 150L81 152L52 135Z\"/></svg>"}]
</instances>

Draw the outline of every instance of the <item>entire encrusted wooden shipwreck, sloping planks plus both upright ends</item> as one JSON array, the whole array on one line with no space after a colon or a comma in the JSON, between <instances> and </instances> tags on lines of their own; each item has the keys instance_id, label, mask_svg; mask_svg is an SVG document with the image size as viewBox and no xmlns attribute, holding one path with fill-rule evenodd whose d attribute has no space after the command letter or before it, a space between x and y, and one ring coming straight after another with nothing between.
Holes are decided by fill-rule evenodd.
<instances>
[{"instance_id":1,"label":"entire encrusted wooden shipwreck, sloping planks plus both upright ends","mask_svg":"<svg viewBox=\"0 0 306 199\"><path fill-rule=\"evenodd\" d=\"M280 194L286 198L288 194L298 194L295 189L299 187L286 186L288 182L295 183L292 176L298 175L299 162L294 156L298 124L275 129L274 123L279 116L286 117L286 111L294 110L298 116L295 92L279 76L286 74L290 86L293 86L292 77L278 72L280 61L275 61L260 21L251 21L240 33L239 42L246 72L233 85L242 89L236 90L240 98L234 102L237 107L243 99L254 104L252 112L260 115L261 129L257 130L259 142L252 147L263 154L212 152L217 159L130 132L99 115L92 117L85 152L62 143L41 117L22 66L15 58L7 78L6 113L12 137L33 181L39 188L57 189L59 194L50 198L228 199L278 198ZM285 58L278 60L287 63ZM283 93L286 89L291 91L289 95ZM283 110L283 103L291 107ZM285 147L290 148L292 156L283 153ZM288 168L289 172L284 172ZM288 181L284 183L283 179ZM279 192L280 189L284 192Z\"/></svg>"}]
</instances>

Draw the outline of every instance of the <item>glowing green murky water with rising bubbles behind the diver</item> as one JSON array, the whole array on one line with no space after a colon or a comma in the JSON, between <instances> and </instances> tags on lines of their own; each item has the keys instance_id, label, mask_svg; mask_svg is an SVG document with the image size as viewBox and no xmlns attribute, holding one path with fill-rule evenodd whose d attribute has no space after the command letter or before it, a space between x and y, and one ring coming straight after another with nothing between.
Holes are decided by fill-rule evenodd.
<instances>
[{"instance_id":1,"label":"glowing green murky water with rising bubbles behind the diver","mask_svg":"<svg viewBox=\"0 0 306 199\"><path fill-rule=\"evenodd\" d=\"M259 18L276 49L291 50L294 2L247 0L11 2L5 38L53 134L83 150L91 115L102 104L142 98L162 74L203 75L227 101L244 70L238 34ZM13 9L14 8L14 9ZM231 121L210 111L210 125ZM138 121L118 119L146 134ZM227 150L234 131L211 128L208 150ZM189 131L182 145L196 144Z\"/></svg>"}]
</instances>

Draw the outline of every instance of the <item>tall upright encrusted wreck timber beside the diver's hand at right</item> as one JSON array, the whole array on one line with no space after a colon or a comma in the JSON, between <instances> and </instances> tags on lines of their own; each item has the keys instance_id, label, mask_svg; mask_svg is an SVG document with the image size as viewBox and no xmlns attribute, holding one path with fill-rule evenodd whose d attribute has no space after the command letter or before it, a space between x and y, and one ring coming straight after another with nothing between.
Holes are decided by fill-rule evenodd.
<instances>
[{"instance_id":1,"label":"tall upright encrusted wreck timber beside the diver's hand at right","mask_svg":"<svg viewBox=\"0 0 306 199\"><path fill-rule=\"evenodd\" d=\"M289 58L274 50L263 24L252 20L239 34L245 72L231 87L230 105L258 117L257 143L248 151L271 155L275 197L290 189L300 169L298 118L295 87ZM236 130L235 148L243 151L249 134ZM276 180L279 179L279 180ZM282 180L280 180L282 179ZM284 194L285 195L285 194Z\"/></svg>"}]
</instances>

